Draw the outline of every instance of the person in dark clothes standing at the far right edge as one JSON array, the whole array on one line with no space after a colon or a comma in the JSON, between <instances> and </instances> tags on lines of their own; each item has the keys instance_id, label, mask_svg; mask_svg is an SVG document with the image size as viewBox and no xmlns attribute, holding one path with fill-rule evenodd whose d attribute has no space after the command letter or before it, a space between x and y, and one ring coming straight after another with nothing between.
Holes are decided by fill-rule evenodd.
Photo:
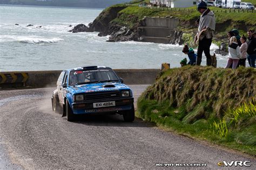
<instances>
[{"instance_id":1,"label":"person in dark clothes standing at the far right edge","mask_svg":"<svg viewBox=\"0 0 256 170\"><path fill-rule=\"evenodd\" d=\"M255 58L256 58L256 38L253 37L252 30L247 32L248 34L248 48L247 48L247 59L250 67L255 68Z\"/></svg>"}]
</instances>

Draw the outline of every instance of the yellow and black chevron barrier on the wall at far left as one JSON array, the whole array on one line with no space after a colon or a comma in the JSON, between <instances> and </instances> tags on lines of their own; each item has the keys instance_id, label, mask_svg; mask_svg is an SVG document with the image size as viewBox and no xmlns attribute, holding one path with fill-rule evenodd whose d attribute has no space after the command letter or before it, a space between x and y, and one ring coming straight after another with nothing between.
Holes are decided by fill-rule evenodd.
<instances>
[{"instance_id":1,"label":"yellow and black chevron barrier on the wall at far left","mask_svg":"<svg viewBox=\"0 0 256 170\"><path fill-rule=\"evenodd\" d=\"M25 83L28 78L28 73L0 73L0 84Z\"/></svg>"}]
</instances>

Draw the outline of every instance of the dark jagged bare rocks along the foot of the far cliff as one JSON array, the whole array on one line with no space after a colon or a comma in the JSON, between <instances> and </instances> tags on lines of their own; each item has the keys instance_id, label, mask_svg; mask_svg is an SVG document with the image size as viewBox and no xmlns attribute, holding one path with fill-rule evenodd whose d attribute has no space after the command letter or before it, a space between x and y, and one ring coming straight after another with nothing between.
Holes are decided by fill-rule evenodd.
<instances>
[{"instance_id":1,"label":"dark jagged bare rocks along the foot of the far cliff","mask_svg":"<svg viewBox=\"0 0 256 170\"><path fill-rule=\"evenodd\" d=\"M109 42L117 41L143 41L143 31L139 27L145 26L144 19L138 20L133 27L120 25L113 20L118 17L118 12L125 9L126 6L113 6L102 11L99 16L88 26L84 24L76 25L69 32L99 32L98 36L110 36ZM176 30L174 33L167 36L170 39L169 44L184 44L183 31ZM214 51L216 54L227 55L227 43L221 42L219 49Z\"/></svg>"}]
</instances>

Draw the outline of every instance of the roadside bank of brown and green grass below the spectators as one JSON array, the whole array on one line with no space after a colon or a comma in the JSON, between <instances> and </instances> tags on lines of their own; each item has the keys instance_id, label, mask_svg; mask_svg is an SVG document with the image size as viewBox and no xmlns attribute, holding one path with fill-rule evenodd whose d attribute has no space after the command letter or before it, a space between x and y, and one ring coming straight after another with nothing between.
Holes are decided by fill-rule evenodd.
<instances>
[{"instance_id":1,"label":"roadside bank of brown and green grass below the spectators","mask_svg":"<svg viewBox=\"0 0 256 170\"><path fill-rule=\"evenodd\" d=\"M256 70L191 67L159 75L137 116L256 157Z\"/></svg>"}]
</instances>

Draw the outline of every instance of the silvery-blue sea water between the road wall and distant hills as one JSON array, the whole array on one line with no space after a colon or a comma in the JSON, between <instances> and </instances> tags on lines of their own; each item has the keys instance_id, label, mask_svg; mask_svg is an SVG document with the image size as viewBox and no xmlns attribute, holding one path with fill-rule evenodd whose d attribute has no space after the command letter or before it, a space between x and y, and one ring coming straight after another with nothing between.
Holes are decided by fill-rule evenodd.
<instances>
[{"instance_id":1,"label":"silvery-blue sea water between the road wall and distant hills","mask_svg":"<svg viewBox=\"0 0 256 170\"><path fill-rule=\"evenodd\" d=\"M180 67L183 46L150 42L106 42L98 32L68 32L89 24L103 9L0 5L0 72L63 70L85 65L112 68ZM17 25L18 24L18 25ZM33 26L28 26L29 24ZM211 46L211 54L217 49ZM217 55L218 67L227 56ZM203 55L202 65L206 65Z\"/></svg>"}]
</instances>

